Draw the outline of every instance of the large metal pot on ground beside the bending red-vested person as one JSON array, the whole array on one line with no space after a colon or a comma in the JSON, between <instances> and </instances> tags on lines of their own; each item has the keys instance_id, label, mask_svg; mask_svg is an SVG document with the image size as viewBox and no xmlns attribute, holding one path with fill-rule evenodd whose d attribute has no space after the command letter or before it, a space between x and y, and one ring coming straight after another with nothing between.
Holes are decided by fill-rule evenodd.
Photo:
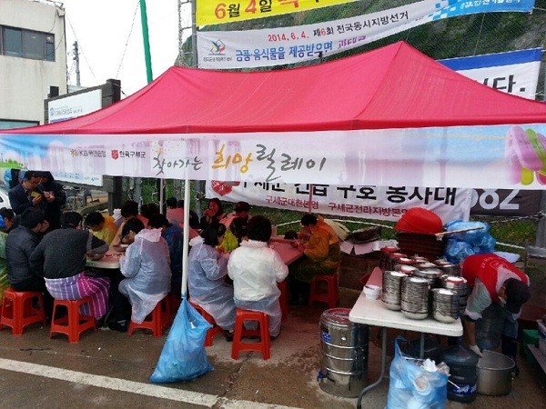
<instances>
[{"instance_id":1,"label":"large metal pot on ground beside the bending red-vested person","mask_svg":"<svg viewBox=\"0 0 546 409\"><path fill-rule=\"evenodd\" d=\"M514 361L506 355L483 351L483 358L476 365L478 394L510 394L515 366Z\"/></svg>"}]
</instances>

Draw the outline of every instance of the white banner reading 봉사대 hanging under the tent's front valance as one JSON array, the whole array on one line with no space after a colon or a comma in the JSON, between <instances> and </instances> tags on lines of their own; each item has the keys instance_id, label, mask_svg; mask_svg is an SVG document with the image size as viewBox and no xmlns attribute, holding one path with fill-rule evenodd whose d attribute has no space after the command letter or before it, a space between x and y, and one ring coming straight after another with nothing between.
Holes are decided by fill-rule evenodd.
<instances>
[{"instance_id":1,"label":"white banner reading \ubd09\uc0ac\ub300 hanging under the tent's front valance","mask_svg":"<svg viewBox=\"0 0 546 409\"><path fill-rule=\"evenodd\" d=\"M444 224L469 220L472 189L410 186L226 184L207 182L207 197L284 210L396 222L411 207L438 214Z\"/></svg>"}]
</instances>

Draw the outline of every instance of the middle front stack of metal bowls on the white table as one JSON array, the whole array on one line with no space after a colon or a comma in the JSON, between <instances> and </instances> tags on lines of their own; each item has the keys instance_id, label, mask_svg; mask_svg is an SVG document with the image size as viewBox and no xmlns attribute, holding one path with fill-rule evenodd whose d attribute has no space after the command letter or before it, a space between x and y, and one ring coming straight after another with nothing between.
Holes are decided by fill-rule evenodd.
<instances>
[{"instance_id":1,"label":"middle front stack of metal bowls on the white table","mask_svg":"<svg viewBox=\"0 0 546 409\"><path fill-rule=\"evenodd\" d=\"M430 280L422 277L403 277L400 310L413 320L423 320L429 316Z\"/></svg>"}]
</instances>

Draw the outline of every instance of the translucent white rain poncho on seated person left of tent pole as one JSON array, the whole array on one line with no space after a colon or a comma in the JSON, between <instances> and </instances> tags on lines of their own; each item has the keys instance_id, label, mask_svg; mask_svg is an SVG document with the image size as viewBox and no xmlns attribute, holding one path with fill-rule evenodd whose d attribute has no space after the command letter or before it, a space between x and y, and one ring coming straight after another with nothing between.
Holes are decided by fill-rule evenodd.
<instances>
[{"instance_id":1,"label":"translucent white rain poncho on seated person left of tent pole","mask_svg":"<svg viewBox=\"0 0 546 409\"><path fill-rule=\"evenodd\" d=\"M141 324L170 290L168 245L161 229L144 229L136 234L135 243L119 260L119 269L127 277L119 283L119 292L131 303L131 319Z\"/></svg>"}]
</instances>

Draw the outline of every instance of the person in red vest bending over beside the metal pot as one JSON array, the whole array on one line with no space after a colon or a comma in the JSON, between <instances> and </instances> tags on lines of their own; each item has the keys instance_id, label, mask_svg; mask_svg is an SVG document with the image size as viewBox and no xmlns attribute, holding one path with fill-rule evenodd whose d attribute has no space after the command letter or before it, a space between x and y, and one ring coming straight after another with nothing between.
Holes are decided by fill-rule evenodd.
<instances>
[{"instance_id":1,"label":"person in red vest bending over beside the metal pot","mask_svg":"<svg viewBox=\"0 0 546 409\"><path fill-rule=\"evenodd\" d=\"M470 255L461 271L471 288L463 314L470 349L481 355L502 344L502 354L515 362L521 305L531 296L529 277L497 254Z\"/></svg>"}]
</instances>

